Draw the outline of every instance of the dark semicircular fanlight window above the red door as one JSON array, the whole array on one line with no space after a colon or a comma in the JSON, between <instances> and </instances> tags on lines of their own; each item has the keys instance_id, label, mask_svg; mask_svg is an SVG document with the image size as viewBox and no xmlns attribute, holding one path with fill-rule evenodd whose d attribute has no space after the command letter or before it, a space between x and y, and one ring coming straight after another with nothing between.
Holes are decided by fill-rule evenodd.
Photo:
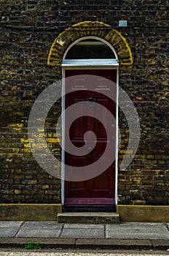
<instances>
[{"instance_id":1,"label":"dark semicircular fanlight window above the red door","mask_svg":"<svg viewBox=\"0 0 169 256\"><path fill-rule=\"evenodd\" d=\"M65 59L116 59L116 57L104 42L84 39L68 50Z\"/></svg>"}]
</instances>

